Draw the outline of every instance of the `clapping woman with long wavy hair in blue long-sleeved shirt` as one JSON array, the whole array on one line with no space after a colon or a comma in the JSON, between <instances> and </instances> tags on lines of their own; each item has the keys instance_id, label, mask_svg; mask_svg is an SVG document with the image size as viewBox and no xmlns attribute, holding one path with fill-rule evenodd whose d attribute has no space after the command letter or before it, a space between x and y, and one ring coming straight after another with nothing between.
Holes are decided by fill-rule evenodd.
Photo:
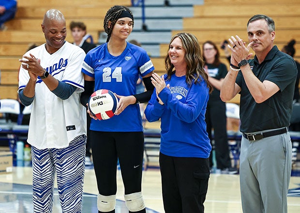
<instances>
[{"instance_id":1,"label":"clapping woman with long wavy hair in blue long-sleeved shirt","mask_svg":"<svg viewBox=\"0 0 300 213\"><path fill-rule=\"evenodd\" d=\"M152 75L149 122L161 119L159 164L165 213L203 213L210 177L205 111L212 90L197 38L178 33L165 58L166 74Z\"/></svg>"}]
</instances>

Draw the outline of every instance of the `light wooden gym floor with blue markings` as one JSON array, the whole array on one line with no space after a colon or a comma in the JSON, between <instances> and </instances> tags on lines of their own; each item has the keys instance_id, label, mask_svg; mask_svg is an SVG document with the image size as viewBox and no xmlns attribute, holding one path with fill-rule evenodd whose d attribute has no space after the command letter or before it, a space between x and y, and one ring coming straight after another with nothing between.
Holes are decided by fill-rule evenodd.
<instances>
[{"instance_id":1,"label":"light wooden gym floor with blue markings","mask_svg":"<svg viewBox=\"0 0 300 213\"><path fill-rule=\"evenodd\" d=\"M155 164L153 160L153 164ZM153 165L152 164L152 165ZM13 167L13 172L0 174L0 213L32 213L32 168L24 163ZM289 186L288 213L300 212L300 166L294 168ZM128 213L123 201L123 183L117 173L118 192L116 213ZM147 213L164 213L160 171L148 168L143 171L142 192ZM57 189L53 213L61 213ZM83 213L97 213L97 187L92 166L86 167L83 196ZM208 213L241 213L239 175L211 174L205 201Z\"/></svg>"}]
</instances>

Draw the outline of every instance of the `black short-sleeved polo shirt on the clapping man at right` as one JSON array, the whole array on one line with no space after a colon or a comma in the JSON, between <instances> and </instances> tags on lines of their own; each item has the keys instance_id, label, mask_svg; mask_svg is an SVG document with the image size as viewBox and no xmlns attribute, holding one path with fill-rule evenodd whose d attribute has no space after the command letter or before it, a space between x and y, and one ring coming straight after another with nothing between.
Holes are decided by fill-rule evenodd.
<instances>
[{"instance_id":1,"label":"black short-sleeved polo shirt on the clapping man at right","mask_svg":"<svg viewBox=\"0 0 300 213\"><path fill-rule=\"evenodd\" d=\"M297 76L294 59L273 46L265 60L257 57L250 61L255 76L275 83L280 90L263 103L257 104L239 72L236 83L240 86L240 131L250 133L289 126Z\"/></svg>"}]
</instances>

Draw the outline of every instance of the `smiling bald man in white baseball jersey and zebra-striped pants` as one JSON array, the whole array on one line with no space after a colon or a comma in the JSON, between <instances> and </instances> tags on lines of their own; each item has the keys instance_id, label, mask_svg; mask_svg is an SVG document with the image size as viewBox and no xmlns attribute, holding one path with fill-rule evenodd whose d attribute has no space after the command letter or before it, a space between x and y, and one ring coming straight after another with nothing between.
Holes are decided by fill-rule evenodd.
<instances>
[{"instance_id":1,"label":"smiling bald man in white baseball jersey and zebra-striped pants","mask_svg":"<svg viewBox=\"0 0 300 213\"><path fill-rule=\"evenodd\" d=\"M42 23L46 43L24 54L19 97L32 104L28 143L33 169L33 212L52 213L55 174L62 213L81 213L86 111L81 73L85 52L65 41L66 22L56 9Z\"/></svg>"}]
</instances>

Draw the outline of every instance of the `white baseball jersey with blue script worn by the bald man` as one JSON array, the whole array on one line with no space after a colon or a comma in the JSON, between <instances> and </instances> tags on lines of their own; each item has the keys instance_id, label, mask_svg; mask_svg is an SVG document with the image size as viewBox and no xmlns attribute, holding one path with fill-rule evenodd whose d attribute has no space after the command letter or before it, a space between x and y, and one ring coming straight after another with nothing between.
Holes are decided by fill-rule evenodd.
<instances>
[{"instance_id":1,"label":"white baseball jersey with blue script worn by the bald man","mask_svg":"<svg viewBox=\"0 0 300 213\"><path fill-rule=\"evenodd\" d=\"M86 54L68 42L53 54L46 51L45 44L25 55L29 53L41 60L41 66L51 76L77 89L68 99L62 100L37 79L27 141L38 149L67 147L75 137L86 134L86 109L80 104L80 94L84 91L81 67ZM29 79L28 71L21 66L18 91L25 88Z\"/></svg>"}]
</instances>

